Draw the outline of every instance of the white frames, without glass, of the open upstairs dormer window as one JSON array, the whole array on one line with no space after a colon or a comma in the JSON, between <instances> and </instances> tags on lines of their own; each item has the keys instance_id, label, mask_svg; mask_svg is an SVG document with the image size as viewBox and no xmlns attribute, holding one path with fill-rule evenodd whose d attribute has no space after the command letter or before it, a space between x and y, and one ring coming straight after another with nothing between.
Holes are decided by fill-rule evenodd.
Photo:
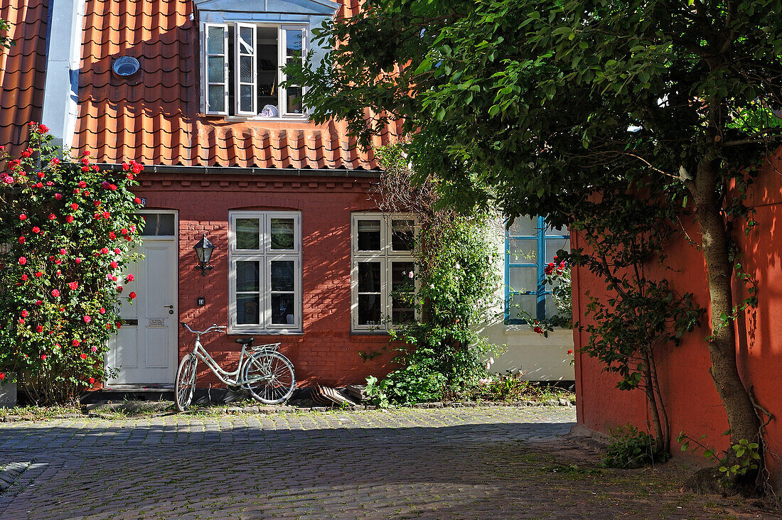
<instances>
[{"instance_id":1,"label":"white frames, without glass, of the open upstairs dormer window","mask_svg":"<svg viewBox=\"0 0 782 520\"><path fill-rule=\"evenodd\" d=\"M286 56L286 49L287 49L287 32L288 30L301 30L303 32L302 34L302 50L301 50L301 56L302 60L304 60L307 57L307 51L309 50L309 37L310 37L310 24L309 23L270 23L270 22L252 22L249 20L246 21L237 21L237 22L230 22L230 24L233 25L234 30L234 52L232 56L228 55L228 26L229 23L202 23L202 48L203 52L202 59L203 59L203 65L201 66L201 78L202 78L202 84L204 87L202 88L201 95L202 95L202 107L203 107L203 113L206 115L220 115L225 116L229 120L307 120L309 118L309 114L307 112L307 109L303 107L301 113L289 113L288 112L288 91L285 88L282 88L279 86L279 84L282 83L282 81L285 81L287 78L285 74L282 72L282 67L285 66L286 60L288 56ZM222 27L224 30L224 45L225 45L225 62L224 62L224 99L225 109L222 111L219 110L211 110L209 107L209 85L208 82L208 75L209 75L209 49L208 49L208 41L207 41L207 34L210 29L210 27ZM261 106L258 106L258 70L257 70L257 46L258 46L258 38L257 33L254 33L253 35L253 41L255 48L253 53L253 109L251 111L242 111L240 110L240 82L239 82L239 56L241 54L241 48L239 47L239 29L241 27L274 27L277 29L277 63L278 63L278 70L277 70L277 79L278 84L276 87L277 91L277 109L278 109L278 117L261 117L260 116L260 110L263 108ZM214 56L214 55L213 55ZM246 53L244 56L248 56ZM231 65L233 66L233 70L231 70ZM228 81L228 74L233 74L233 80L234 80L234 103L233 107L229 109L228 106L228 91L229 91L229 81ZM245 83L246 84L246 83ZM307 87L301 87L301 93L304 95L304 93L307 91Z\"/></svg>"}]
</instances>

